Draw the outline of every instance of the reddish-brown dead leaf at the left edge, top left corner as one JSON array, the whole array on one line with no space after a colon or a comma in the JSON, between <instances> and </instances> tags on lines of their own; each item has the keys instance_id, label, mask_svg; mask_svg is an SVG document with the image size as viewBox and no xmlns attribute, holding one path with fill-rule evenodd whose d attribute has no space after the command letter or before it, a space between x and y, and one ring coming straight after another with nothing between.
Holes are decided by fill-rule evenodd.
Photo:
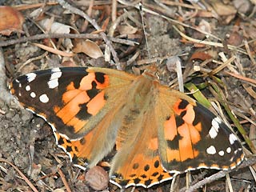
<instances>
[{"instance_id":1,"label":"reddish-brown dead leaf at the left edge, top left corner","mask_svg":"<svg viewBox=\"0 0 256 192\"><path fill-rule=\"evenodd\" d=\"M10 36L12 32L22 33L24 17L10 6L0 6L0 34Z\"/></svg>"}]
</instances>

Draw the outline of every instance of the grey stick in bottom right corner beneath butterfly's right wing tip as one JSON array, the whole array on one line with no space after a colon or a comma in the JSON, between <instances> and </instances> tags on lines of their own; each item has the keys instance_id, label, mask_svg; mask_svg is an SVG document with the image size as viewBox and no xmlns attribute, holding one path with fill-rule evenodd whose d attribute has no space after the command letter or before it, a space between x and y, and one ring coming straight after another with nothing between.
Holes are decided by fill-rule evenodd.
<instances>
[{"instance_id":1,"label":"grey stick in bottom right corner beneath butterfly's right wing tip","mask_svg":"<svg viewBox=\"0 0 256 192\"><path fill-rule=\"evenodd\" d=\"M252 157L246 161L244 161L242 163L241 166L238 167L238 169L242 169L244 167L247 167L247 166L252 166L256 163L256 157ZM214 182L216 181L217 179L219 178L223 178L225 177L226 174L229 174L232 170L229 170L229 171L219 171L217 174L213 174L211 175L210 177L208 178L204 178L202 181L200 182L197 182L196 184L194 184L194 186L190 186L189 189L186 189L186 187L183 187L181 190L179 190L180 192L192 192L192 191L195 191L197 190L198 188L206 185L207 183L210 183L210 182Z\"/></svg>"}]
</instances>

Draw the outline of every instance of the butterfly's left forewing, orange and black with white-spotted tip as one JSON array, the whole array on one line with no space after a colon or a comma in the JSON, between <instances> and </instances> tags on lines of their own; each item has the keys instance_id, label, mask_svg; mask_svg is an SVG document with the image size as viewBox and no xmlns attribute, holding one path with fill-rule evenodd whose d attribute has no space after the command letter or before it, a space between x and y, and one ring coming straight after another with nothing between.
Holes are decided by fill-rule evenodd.
<instances>
[{"instance_id":1,"label":"butterfly's left forewing, orange and black with white-spotted tip","mask_svg":"<svg viewBox=\"0 0 256 192\"><path fill-rule=\"evenodd\" d=\"M70 139L81 138L104 117L95 114L107 112L102 110L110 106L106 103L106 90L111 92L113 86L125 89L132 79L127 74L113 85L111 81L116 82L115 79L110 80L98 68L93 69L66 67L35 71L15 79L11 92L25 108L47 119L59 133ZM91 118L93 121L89 121Z\"/></svg>"}]
</instances>

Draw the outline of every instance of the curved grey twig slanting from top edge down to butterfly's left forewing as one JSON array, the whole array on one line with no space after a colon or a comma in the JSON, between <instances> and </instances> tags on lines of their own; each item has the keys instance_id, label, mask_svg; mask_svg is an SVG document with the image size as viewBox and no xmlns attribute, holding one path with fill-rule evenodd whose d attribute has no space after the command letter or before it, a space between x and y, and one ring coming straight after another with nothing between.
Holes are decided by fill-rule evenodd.
<instances>
[{"instance_id":1,"label":"curved grey twig slanting from top edge down to butterfly's left forewing","mask_svg":"<svg viewBox=\"0 0 256 192\"><path fill-rule=\"evenodd\" d=\"M85 18L88 22L90 22L90 24L92 26L94 26L94 28L96 30L102 30L101 27L98 26L97 22L95 22L94 19L91 19L87 14L82 12L82 10L78 10L74 6L70 6L70 4L68 4L64 0L58 0L58 3L63 8L65 8L66 10L70 10L71 13L78 14L78 15L82 16L83 18ZM107 38L105 33L101 32L100 34L102 35L103 40L106 42L106 46L108 46L110 48L110 51L111 51L111 53L113 55L113 58L114 58L114 62L116 63L116 66L117 66L118 70L121 70L122 68L121 68L121 65L120 65L120 62L119 62L118 54L115 52L114 47L112 46L112 43Z\"/></svg>"}]
</instances>

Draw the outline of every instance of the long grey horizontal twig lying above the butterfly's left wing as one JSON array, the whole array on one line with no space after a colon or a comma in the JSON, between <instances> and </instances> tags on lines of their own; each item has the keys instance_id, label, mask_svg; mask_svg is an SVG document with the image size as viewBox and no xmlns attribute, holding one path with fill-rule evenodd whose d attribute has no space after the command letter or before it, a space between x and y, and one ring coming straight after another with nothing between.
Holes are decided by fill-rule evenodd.
<instances>
[{"instance_id":1,"label":"long grey horizontal twig lying above the butterfly's left wing","mask_svg":"<svg viewBox=\"0 0 256 192\"><path fill-rule=\"evenodd\" d=\"M18 44L21 42L32 42L35 40L39 40L42 38L90 38L90 39L102 39L102 37L98 34L36 34L34 36L25 37L25 38L19 38L19 39L13 39L6 42L0 42L1 46L10 46L14 44ZM110 37L109 37L110 38ZM133 42L130 40L122 39L122 38L110 38L112 42L118 42L121 44L125 44L128 46L134 46L135 44L138 44L137 42Z\"/></svg>"}]
</instances>

